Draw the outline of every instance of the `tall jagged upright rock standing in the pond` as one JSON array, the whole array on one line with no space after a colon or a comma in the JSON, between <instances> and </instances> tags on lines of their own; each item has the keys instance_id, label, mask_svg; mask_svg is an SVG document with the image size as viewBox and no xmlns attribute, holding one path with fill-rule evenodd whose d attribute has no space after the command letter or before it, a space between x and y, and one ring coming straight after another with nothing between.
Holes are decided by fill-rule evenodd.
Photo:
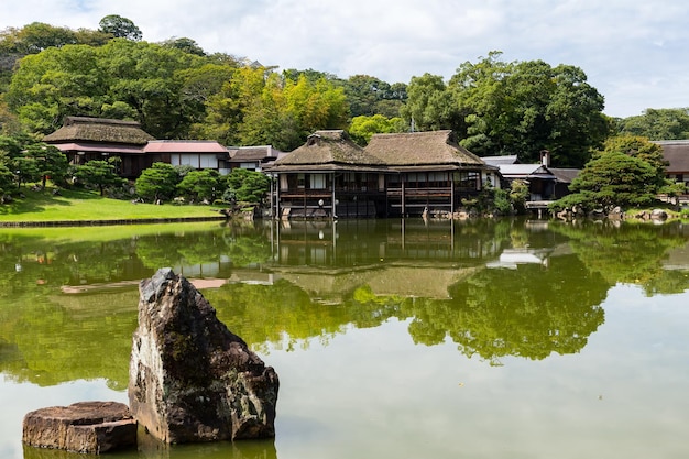
<instances>
[{"instance_id":1,"label":"tall jagged upright rock standing in the pond","mask_svg":"<svg viewBox=\"0 0 689 459\"><path fill-rule=\"evenodd\" d=\"M184 277L141 282L130 409L166 442L275 436L278 380Z\"/></svg>"}]
</instances>

